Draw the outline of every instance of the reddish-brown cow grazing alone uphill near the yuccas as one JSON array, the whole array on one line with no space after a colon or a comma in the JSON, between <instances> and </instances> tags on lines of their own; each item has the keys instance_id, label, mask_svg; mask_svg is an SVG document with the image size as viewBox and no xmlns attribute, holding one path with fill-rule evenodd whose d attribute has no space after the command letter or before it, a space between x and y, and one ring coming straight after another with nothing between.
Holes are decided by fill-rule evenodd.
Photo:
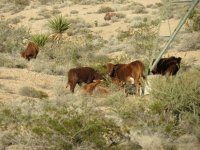
<instances>
[{"instance_id":1,"label":"reddish-brown cow grazing alone uphill near the yuccas","mask_svg":"<svg viewBox=\"0 0 200 150\"><path fill-rule=\"evenodd\" d=\"M36 59L38 52L39 52L38 45L36 45L33 42L29 42L28 46L26 47L26 49L21 51L21 57L27 59L28 61L31 58L35 58Z\"/></svg>"}]
</instances>

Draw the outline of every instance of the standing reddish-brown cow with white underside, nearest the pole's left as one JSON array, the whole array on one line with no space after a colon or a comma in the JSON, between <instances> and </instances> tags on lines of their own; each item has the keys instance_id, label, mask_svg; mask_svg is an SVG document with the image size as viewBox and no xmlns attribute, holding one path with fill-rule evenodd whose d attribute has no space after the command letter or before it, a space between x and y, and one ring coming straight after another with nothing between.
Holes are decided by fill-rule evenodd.
<instances>
[{"instance_id":1,"label":"standing reddish-brown cow with white underside, nearest the pole's left","mask_svg":"<svg viewBox=\"0 0 200 150\"><path fill-rule=\"evenodd\" d=\"M141 78L145 79L144 76L144 64L141 61L134 61L130 64L108 64L107 69L111 78L117 78L122 83L126 83L130 78L134 79L136 86L136 95L139 94L139 87L141 84Z\"/></svg>"}]
</instances>

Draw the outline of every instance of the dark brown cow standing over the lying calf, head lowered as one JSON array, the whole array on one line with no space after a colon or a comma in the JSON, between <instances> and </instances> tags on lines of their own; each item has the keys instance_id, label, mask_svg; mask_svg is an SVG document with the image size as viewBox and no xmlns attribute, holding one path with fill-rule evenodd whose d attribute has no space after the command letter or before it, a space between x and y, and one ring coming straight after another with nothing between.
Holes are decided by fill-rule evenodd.
<instances>
[{"instance_id":1,"label":"dark brown cow standing over the lying calf, head lowered","mask_svg":"<svg viewBox=\"0 0 200 150\"><path fill-rule=\"evenodd\" d=\"M68 85L70 86L70 90L74 93L74 89L76 84L78 83L79 86L84 83L92 83L93 80L102 80L103 77L97 73L93 68L90 67L79 67L79 68L72 68L68 71Z\"/></svg>"}]
</instances>

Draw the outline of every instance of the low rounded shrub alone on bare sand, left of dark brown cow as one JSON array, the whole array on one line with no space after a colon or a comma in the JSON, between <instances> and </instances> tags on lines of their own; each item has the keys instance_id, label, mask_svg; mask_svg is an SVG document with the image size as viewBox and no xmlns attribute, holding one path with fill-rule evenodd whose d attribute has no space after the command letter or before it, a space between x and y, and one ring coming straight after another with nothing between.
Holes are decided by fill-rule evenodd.
<instances>
[{"instance_id":1,"label":"low rounded shrub alone on bare sand, left of dark brown cow","mask_svg":"<svg viewBox=\"0 0 200 150\"><path fill-rule=\"evenodd\" d=\"M23 87L23 88L21 88L20 94L23 95L23 96L40 98L40 99L48 97L48 95L45 92L36 90L33 87Z\"/></svg>"}]
</instances>

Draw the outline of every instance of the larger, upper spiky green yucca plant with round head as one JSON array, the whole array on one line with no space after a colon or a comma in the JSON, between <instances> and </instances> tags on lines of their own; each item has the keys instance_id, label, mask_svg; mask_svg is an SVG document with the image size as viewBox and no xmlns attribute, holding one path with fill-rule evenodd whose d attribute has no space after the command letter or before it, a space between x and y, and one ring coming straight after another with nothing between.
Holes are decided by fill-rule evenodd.
<instances>
[{"instance_id":1,"label":"larger, upper spiky green yucca plant with round head","mask_svg":"<svg viewBox=\"0 0 200 150\"><path fill-rule=\"evenodd\" d=\"M70 22L67 19L65 19L62 15L60 15L49 20L48 25L54 33L63 33L69 28Z\"/></svg>"}]
</instances>

